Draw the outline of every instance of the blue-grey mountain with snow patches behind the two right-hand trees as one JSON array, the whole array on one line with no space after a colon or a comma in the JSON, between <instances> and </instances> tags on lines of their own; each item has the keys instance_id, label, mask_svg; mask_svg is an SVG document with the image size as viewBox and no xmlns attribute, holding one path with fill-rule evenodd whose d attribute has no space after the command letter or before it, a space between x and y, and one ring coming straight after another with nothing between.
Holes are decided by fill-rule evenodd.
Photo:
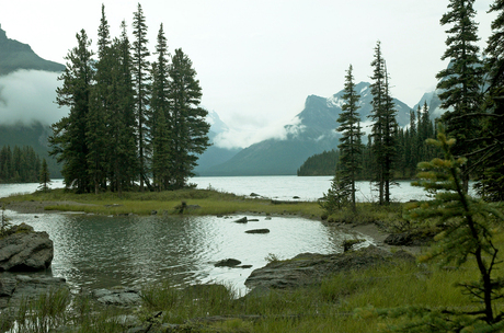
<instances>
[{"instance_id":1,"label":"blue-grey mountain with snow patches behind the two right-hand trees","mask_svg":"<svg viewBox=\"0 0 504 333\"><path fill-rule=\"evenodd\" d=\"M360 82L355 90L360 94L359 113L363 126L370 125L368 116L373 107L370 84ZM284 139L268 139L254 143L227 162L199 172L201 175L289 175L296 174L307 158L337 147L340 134L335 131L336 119L343 105L344 91L329 99L310 95L305 108L284 126ZM394 99L398 123L410 123L410 107ZM369 128L365 128L368 130Z\"/></svg>"}]
</instances>

